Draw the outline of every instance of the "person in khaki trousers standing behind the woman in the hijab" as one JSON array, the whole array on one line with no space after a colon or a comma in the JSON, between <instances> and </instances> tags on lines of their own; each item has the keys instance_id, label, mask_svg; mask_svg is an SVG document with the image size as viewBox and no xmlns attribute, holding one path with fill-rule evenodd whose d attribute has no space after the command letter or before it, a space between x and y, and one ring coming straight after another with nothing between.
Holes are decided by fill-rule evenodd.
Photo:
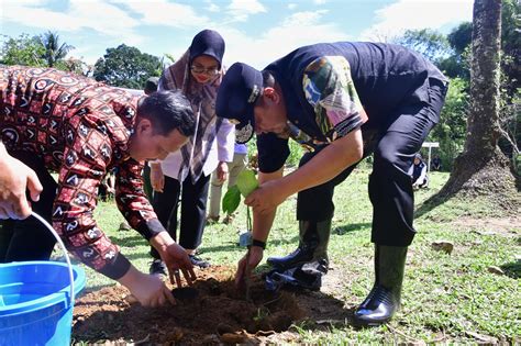
<instances>
[{"instance_id":1,"label":"person in khaki trousers standing behind the woman in the hijab","mask_svg":"<svg viewBox=\"0 0 521 346\"><path fill-rule=\"evenodd\" d=\"M229 176L230 176L228 180L229 189L235 185L239 174L243 171L246 165L247 165L247 146L245 144L236 143L234 153L233 153L233 161L228 164ZM207 221L209 222L219 222L223 185L224 185L224 180L219 180L219 175L213 172L212 180L211 180L211 189L210 189L210 211L208 212L208 216L207 216ZM233 215L226 214L226 216L223 220L223 223L229 224L232 222L232 220L233 220Z\"/></svg>"}]
</instances>

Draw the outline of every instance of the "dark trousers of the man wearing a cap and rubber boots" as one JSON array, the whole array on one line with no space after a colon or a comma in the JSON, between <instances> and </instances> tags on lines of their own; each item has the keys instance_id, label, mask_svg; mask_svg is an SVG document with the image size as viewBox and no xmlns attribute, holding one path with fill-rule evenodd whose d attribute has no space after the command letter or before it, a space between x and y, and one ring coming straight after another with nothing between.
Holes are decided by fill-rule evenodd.
<instances>
[{"instance_id":1,"label":"dark trousers of the man wearing a cap and rubber boots","mask_svg":"<svg viewBox=\"0 0 521 346\"><path fill-rule=\"evenodd\" d=\"M370 143L364 143L364 156L374 152L373 172L369 177L369 199L373 203L372 242L387 246L408 246L415 231L412 226L414 199L408 170L414 154L439 119L446 87L431 80L429 103L403 103L389 114L389 122L380 129L363 127L363 136L377 131ZM307 153L300 166L321 148ZM333 192L336 185L353 171L353 165L332 180L300 191L297 198L297 219L323 221L334 213Z\"/></svg>"}]
</instances>

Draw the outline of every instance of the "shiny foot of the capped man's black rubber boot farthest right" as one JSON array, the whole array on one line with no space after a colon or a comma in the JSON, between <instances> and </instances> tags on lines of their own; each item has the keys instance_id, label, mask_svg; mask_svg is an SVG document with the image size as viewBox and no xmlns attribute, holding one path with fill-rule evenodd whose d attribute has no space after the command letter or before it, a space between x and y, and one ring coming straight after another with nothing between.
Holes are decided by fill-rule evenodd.
<instances>
[{"instance_id":1,"label":"shiny foot of the capped man's black rubber boot farthest right","mask_svg":"<svg viewBox=\"0 0 521 346\"><path fill-rule=\"evenodd\" d=\"M355 311L355 325L378 326L389 321L400 308L397 294L383 286L375 286Z\"/></svg>"}]
</instances>

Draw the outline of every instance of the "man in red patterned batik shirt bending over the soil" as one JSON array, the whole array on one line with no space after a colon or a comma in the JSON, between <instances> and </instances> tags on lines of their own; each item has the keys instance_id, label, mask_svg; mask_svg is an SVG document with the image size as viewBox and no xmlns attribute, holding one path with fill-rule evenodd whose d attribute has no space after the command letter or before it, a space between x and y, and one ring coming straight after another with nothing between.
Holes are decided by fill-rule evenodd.
<instances>
[{"instance_id":1,"label":"man in red patterned batik shirt bending over the soil","mask_svg":"<svg viewBox=\"0 0 521 346\"><path fill-rule=\"evenodd\" d=\"M118 88L55 69L0 68L0 134L9 156L33 169L43 186L32 203L81 261L120 281L144 305L173 301L156 277L142 274L93 220L102 178L118 167L115 200L133 228L155 246L171 271L192 266L157 220L143 191L145 159L164 158L195 131L180 93L132 96ZM5 153L4 153L5 154ZM4 155L3 155L4 156ZM49 170L58 174L57 182ZM1 261L49 257L55 241L35 219L7 220ZM180 284L180 277L176 279Z\"/></svg>"}]
</instances>

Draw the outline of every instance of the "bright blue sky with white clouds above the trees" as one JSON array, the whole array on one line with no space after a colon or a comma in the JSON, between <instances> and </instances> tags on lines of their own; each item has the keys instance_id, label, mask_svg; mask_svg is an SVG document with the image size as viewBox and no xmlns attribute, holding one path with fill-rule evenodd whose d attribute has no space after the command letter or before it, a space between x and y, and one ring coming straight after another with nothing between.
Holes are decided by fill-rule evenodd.
<instances>
[{"instance_id":1,"label":"bright blue sky with white clouds above the trees","mask_svg":"<svg viewBox=\"0 0 521 346\"><path fill-rule=\"evenodd\" d=\"M472 0L0 0L0 33L53 31L76 47L68 56L95 64L122 43L178 58L212 29L226 43L225 65L263 68L319 42L388 41L407 29L446 34L472 12Z\"/></svg>"}]
</instances>

